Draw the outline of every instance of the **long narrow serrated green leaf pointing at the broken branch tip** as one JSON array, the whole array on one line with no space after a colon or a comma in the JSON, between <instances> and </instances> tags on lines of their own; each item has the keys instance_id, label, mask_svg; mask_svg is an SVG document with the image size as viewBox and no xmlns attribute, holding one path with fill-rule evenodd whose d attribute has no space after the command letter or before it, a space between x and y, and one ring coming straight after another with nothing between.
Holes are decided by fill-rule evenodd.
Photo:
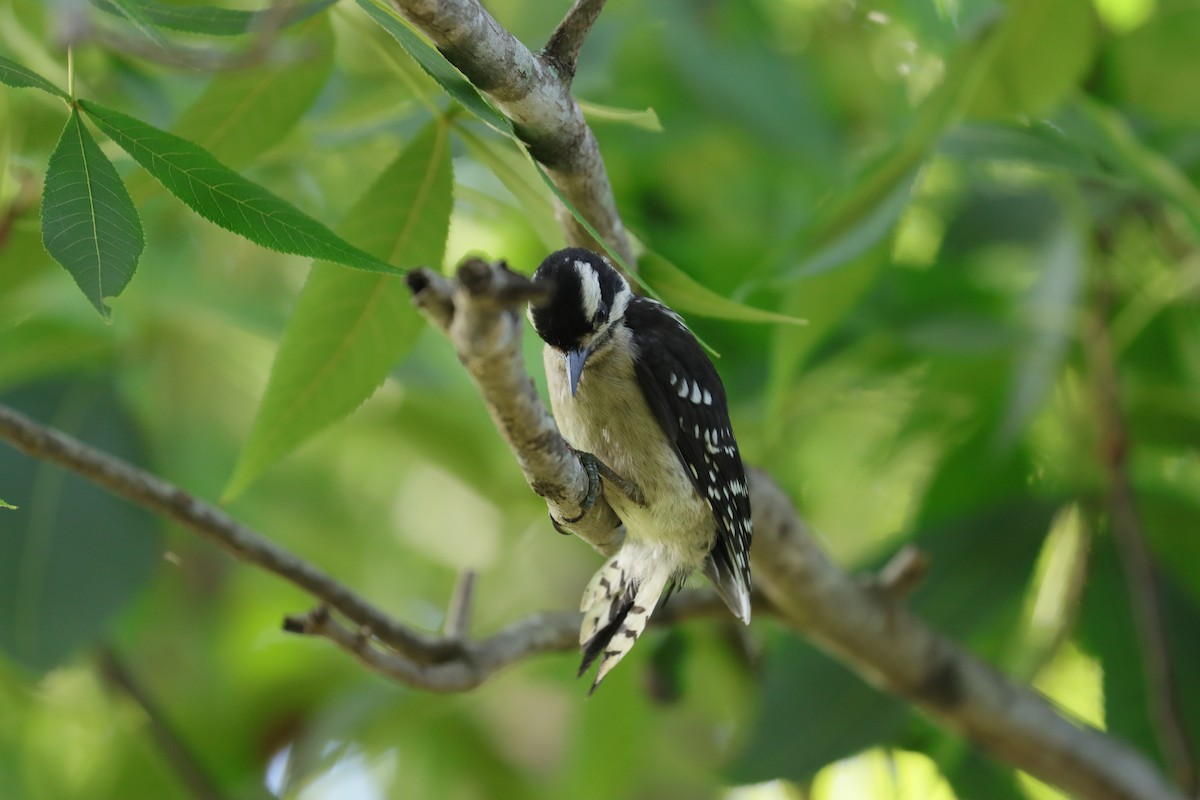
<instances>
[{"instance_id":1,"label":"long narrow serrated green leaf pointing at the broken branch tip","mask_svg":"<svg viewBox=\"0 0 1200 800\"><path fill-rule=\"evenodd\" d=\"M79 108L168 192L226 230L281 253L335 261L367 272L403 272L354 247L191 142L90 101L79 101Z\"/></svg>"}]
</instances>

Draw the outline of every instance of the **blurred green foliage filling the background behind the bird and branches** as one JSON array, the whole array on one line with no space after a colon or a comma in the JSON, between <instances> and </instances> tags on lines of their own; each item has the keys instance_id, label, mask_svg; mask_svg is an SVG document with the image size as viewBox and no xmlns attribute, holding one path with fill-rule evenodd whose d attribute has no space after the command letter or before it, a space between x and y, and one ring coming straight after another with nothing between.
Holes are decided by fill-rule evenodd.
<instances>
[{"instance_id":1,"label":"blurred green foliage filling the background behind the bird and branches","mask_svg":"<svg viewBox=\"0 0 1200 800\"><path fill-rule=\"evenodd\" d=\"M528 271L560 243L550 191L487 107L460 88L458 108L371 4L305 4L269 41L229 36L265 4L220 5L0 0L0 56L66 88L74 37L77 96L395 265L410 247ZM488 4L533 47L568 6ZM659 266L652 285L809 321L690 315L749 461L847 569L919 545L923 616L1160 763L1097 339L1171 657L1194 676L1198 36L1194 0L612 0L575 79L648 266L694 281ZM164 66L167 50L241 68ZM575 604L595 555L552 534L446 343L403 303L358 313L394 278L209 224L92 128L145 229L103 321L41 243L67 119L52 94L0 90L2 402L209 499L252 463L230 511L414 625L438 628L464 569L481 573L475 634ZM388 236L406 213L425 215L415 242ZM272 425L287 446L247 450ZM0 497L17 506L0 504L0 796L190 796L100 643L224 796L700 798L772 778L791 783L738 796L1057 796L770 619L749 640L714 621L653 633L590 700L571 655L432 696L280 632L310 602L292 587L7 447ZM1181 703L1198 742L1194 680Z\"/></svg>"}]
</instances>

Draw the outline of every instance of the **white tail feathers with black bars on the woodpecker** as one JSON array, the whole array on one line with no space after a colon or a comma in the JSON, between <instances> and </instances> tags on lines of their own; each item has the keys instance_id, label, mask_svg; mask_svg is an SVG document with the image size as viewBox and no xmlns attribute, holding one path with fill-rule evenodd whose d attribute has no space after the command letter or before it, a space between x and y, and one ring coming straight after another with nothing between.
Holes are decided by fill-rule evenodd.
<instances>
[{"instance_id":1,"label":"white tail feathers with black bars on the woodpecker","mask_svg":"<svg viewBox=\"0 0 1200 800\"><path fill-rule=\"evenodd\" d=\"M646 630L671 578L670 571L635 577L628 559L629 554L624 551L608 559L588 583L580 603L583 610L583 625L580 627L583 661L580 675L596 658L600 660L596 678L592 682L593 692Z\"/></svg>"}]
</instances>

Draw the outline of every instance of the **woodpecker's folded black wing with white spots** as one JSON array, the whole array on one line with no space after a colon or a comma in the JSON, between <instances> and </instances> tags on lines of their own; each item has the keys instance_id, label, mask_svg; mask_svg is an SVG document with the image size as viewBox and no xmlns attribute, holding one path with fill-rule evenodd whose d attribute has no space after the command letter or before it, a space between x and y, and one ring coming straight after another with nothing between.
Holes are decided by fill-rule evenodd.
<instances>
[{"instance_id":1,"label":"woodpecker's folded black wing with white spots","mask_svg":"<svg viewBox=\"0 0 1200 800\"><path fill-rule=\"evenodd\" d=\"M642 354L636 360L642 392L716 518L716 543L709 554L716 576L709 577L718 578L719 589L731 581L743 595L739 600L749 602L750 494L721 378L679 315L662 303L635 297L625 320ZM730 597L726 602L743 615Z\"/></svg>"}]
</instances>

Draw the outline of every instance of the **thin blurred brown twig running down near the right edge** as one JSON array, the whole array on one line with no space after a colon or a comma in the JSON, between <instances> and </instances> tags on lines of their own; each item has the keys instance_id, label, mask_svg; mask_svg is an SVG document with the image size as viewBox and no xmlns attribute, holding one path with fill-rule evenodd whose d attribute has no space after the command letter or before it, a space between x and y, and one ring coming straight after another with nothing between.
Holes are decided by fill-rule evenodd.
<instances>
[{"instance_id":1,"label":"thin blurred brown twig running down near the right edge","mask_svg":"<svg viewBox=\"0 0 1200 800\"><path fill-rule=\"evenodd\" d=\"M1158 744L1176 782L1184 792L1195 796L1200 789L1200 770L1183 721L1178 675L1171 658L1170 636L1163 613L1160 581L1146 543L1138 513L1138 499L1129 480L1129 438L1121 411L1116 356L1106 320L1109 305L1108 291L1102 289L1091 313L1088 354L1096 381L1100 458L1109 475L1112 535L1120 548L1129 590Z\"/></svg>"}]
</instances>

